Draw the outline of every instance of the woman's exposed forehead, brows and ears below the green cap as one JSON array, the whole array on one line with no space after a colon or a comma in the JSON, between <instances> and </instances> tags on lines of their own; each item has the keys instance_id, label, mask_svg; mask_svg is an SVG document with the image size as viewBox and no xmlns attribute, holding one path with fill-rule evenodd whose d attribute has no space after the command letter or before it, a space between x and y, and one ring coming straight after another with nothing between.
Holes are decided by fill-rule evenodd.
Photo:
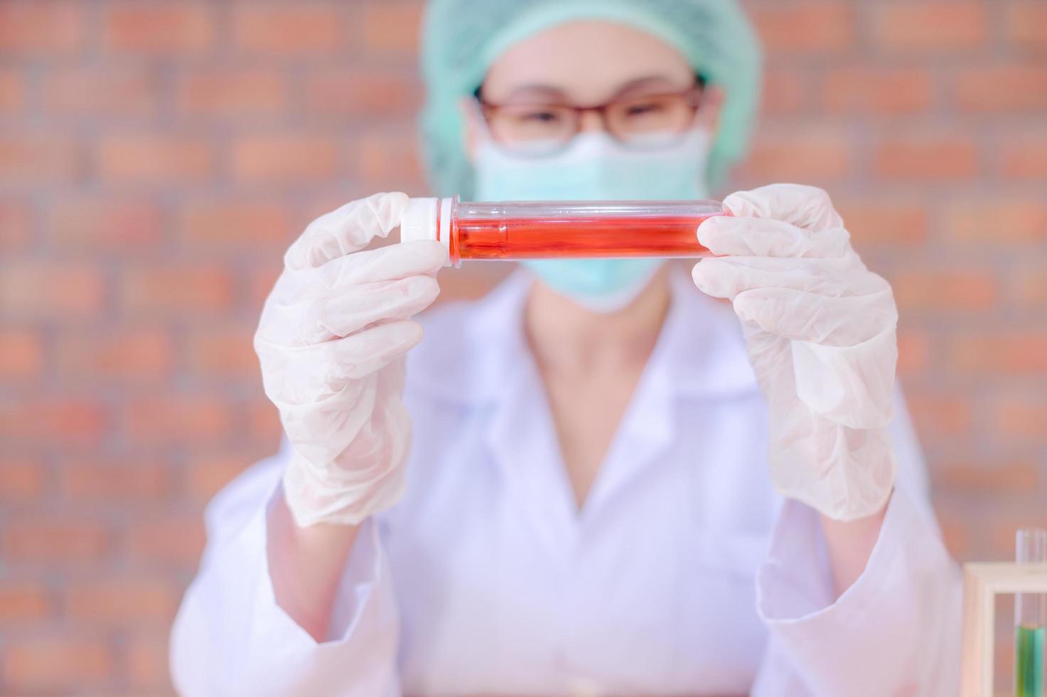
<instances>
[{"instance_id":1,"label":"woman's exposed forehead, brows and ears below the green cap","mask_svg":"<svg viewBox=\"0 0 1047 697\"><path fill-rule=\"evenodd\" d=\"M525 39L503 53L484 80L484 99L493 104L588 106L611 100L678 92L694 85L683 53L661 39L624 24L576 21ZM483 125L466 100L466 147L470 157ZM715 129L719 95L707 89L697 121ZM585 112L581 130L602 128L600 115Z\"/></svg>"}]
</instances>

